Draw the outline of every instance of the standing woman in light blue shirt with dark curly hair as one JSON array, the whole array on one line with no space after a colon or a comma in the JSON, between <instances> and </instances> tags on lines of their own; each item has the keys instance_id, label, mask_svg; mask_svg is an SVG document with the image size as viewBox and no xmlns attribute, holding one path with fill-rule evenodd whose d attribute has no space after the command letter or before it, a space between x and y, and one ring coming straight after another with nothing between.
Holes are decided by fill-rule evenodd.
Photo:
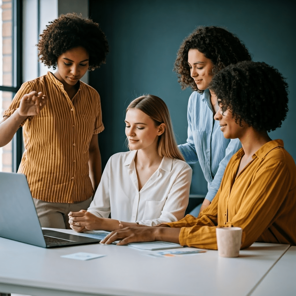
<instances>
[{"instance_id":1,"label":"standing woman in light blue shirt with dark curly hair","mask_svg":"<svg viewBox=\"0 0 296 296\"><path fill-rule=\"evenodd\" d=\"M192 210L198 216L217 193L230 157L241 148L239 140L225 139L213 116L218 110L217 99L208 89L212 78L230 64L251 60L242 41L219 27L198 27L182 42L174 70L182 89L193 90L188 102L188 138L179 145L187 163L200 163L208 183L202 205Z\"/></svg>"}]
</instances>

